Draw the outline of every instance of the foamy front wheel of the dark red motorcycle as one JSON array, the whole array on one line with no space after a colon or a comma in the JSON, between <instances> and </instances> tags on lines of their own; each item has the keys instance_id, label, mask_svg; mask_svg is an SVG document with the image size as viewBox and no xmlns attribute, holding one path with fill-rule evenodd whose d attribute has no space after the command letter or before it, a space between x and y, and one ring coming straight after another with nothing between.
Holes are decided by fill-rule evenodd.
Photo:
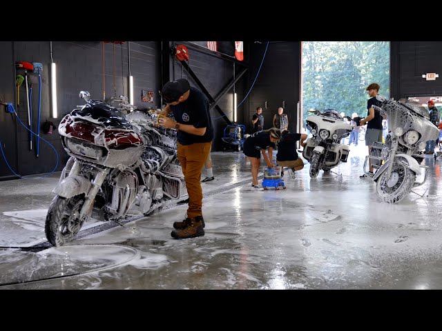
<instances>
[{"instance_id":1,"label":"foamy front wheel of the dark red motorcycle","mask_svg":"<svg viewBox=\"0 0 442 331\"><path fill-rule=\"evenodd\" d=\"M44 232L48 241L54 246L61 246L73 241L84 221L79 219L84 194L63 198L58 195L50 203Z\"/></svg>"}]
</instances>

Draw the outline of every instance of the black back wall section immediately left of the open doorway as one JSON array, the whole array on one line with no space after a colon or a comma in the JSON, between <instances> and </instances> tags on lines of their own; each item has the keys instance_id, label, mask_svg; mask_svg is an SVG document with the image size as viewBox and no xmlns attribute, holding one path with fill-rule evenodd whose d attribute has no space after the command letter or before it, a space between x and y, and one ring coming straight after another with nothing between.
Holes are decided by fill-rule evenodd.
<instances>
[{"instance_id":1,"label":"black back wall section immediately left of the open doorway","mask_svg":"<svg viewBox=\"0 0 442 331\"><path fill-rule=\"evenodd\" d=\"M260 68L267 42L251 43L249 86ZM247 88L248 90L248 88ZM289 117L289 130L296 132L297 104L300 100L300 42L270 42L262 68L249 94L247 109L247 132L251 132L251 119L256 107L262 107L264 128L273 126L273 115L278 113L285 101L285 114ZM267 101L267 109L265 108Z\"/></svg>"}]
</instances>

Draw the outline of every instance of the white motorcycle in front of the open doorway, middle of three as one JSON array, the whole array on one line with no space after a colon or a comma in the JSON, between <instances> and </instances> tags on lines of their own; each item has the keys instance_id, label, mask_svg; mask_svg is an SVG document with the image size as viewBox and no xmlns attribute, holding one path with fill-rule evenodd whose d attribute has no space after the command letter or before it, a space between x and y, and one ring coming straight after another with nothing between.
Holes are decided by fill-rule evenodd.
<instances>
[{"instance_id":1,"label":"white motorcycle in front of the open doorway, middle of three","mask_svg":"<svg viewBox=\"0 0 442 331\"><path fill-rule=\"evenodd\" d=\"M349 136L353 126L346 123L336 110L313 112L306 119L313 137L307 139L302 157L310 163L310 177L316 178L319 170L328 172L338 163L347 162L349 146L340 143L340 140Z\"/></svg>"}]
</instances>

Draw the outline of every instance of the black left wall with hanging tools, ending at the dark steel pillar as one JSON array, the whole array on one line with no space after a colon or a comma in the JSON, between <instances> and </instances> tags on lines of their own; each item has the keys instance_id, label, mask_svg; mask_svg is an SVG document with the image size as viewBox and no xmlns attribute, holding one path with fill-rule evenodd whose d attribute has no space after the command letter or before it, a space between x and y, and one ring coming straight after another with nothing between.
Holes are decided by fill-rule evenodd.
<instances>
[{"instance_id":1,"label":"black left wall with hanging tools, ending at the dark steel pillar","mask_svg":"<svg viewBox=\"0 0 442 331\"><path fill-rule=\"evenodd\" d=\"M103 61L102 43L99 41L54 41L52 58L57 63L57 105L58 117L50 116L50 43L49 41L2 41L0 42L0 97L3 102L13 102L15 108L15 61L40 62L43 64L41 84L41 124L48 119L57 126L61 118L73 110L76 105L84 104L79 99L80 90L88 90L93 99L103 98ZM115 60L114 60L115 59ZM131 41L131 74L134 81L134 103L138 108L160 106L160 43L154 41ZM124 94L128 97L128 43L104 43L104 66L106 99ZM115 74L114 74L115 72ZM24 76L23 70L17 74ZM37 132L37 74L29 74L33 83L32 89L32 130ZM114 79L115 76L115 79ZM115 82L115 83L114 83ZM115 88L114 88L115 86ZM155 92L154 102L141 101L142 90ZM0 140L6 157L15 172L38 174L50 172L56 164L55 153L44 141L40 140L39 157L36 157L35 139L33 151L29 150L29 133L21 125L16 125L15 117L6 114L4 106L0 108ZM20 107L17 110L23 123L28 123L26 108L25 83L20 89ZM16 136L17 135L17 136ZM61 147L57 130L53 134L44 134L59 153L61 170L67 161L67 154ZM0 177L10 176L3 158L0 159Z\"/></svg>"}]
</instances>

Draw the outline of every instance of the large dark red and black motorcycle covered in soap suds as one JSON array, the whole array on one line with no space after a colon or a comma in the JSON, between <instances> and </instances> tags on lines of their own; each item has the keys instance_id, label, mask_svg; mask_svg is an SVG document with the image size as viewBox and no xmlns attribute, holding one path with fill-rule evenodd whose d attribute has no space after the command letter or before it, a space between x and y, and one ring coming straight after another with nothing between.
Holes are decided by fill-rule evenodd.
<instances>
[{"instance_id":1,"label":"large dark red and black motorcycle covered in soap suds","mask_svg":"<svg viewBox=\"0 0 442 331\"><path fill-rule=\"evenodd\" d=\"M156 112L136 110L127 98L92 100L85 91L80 97L86 105L59 124L70 158L46 216L46 238L56 246L72 241L91 217L120 223L188 197L176 130L160 128Z\"/></svg>"}]
</instances>

